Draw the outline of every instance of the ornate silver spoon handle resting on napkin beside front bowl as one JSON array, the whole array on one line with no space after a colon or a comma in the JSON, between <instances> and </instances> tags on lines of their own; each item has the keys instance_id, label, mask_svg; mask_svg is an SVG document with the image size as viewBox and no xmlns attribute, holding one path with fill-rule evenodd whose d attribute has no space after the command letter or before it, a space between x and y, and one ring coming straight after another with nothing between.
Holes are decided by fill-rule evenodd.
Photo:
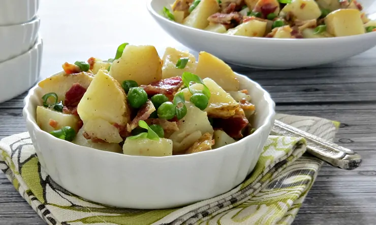
<instances>
[{"instance_id":1,"label":"ornate silver spoon handle resting on napkin beside front bowl","mask_svg":"<svg viewBox=\"0 0 376 225\"><path fill-rule=\"evenodd\" d=\"M307 141L307 152L345 170L353 170L360 166L362 158L356 152L335 143L299 130L293 126L275 120L271 134L293 137L304 137Z\"/></svg>"}]
</instances>

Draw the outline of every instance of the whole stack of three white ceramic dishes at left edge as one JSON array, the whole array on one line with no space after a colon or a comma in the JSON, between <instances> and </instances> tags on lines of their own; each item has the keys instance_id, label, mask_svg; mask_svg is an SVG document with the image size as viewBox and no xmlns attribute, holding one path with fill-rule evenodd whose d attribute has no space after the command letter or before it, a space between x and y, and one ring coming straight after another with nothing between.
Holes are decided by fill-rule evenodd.
<instances>
[{"instance_id":1,"label":"whole stack of three white ceramic dishes at left edge","mask_svg":"<svg viewBox=\"0 0 376 225\"><path fill-rule=\"evenodd\" d=\"M39 78L43 43L38 8L39 0L0 0L0 103Z\"/></svg>"}]
</instances>

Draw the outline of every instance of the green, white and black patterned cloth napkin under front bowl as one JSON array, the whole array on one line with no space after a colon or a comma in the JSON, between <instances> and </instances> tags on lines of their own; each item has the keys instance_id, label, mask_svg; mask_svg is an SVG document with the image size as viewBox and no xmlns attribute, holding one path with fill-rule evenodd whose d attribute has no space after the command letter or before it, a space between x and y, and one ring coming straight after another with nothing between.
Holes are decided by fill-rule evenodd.
<instances>
[{"instance_id":1,"label":"green, white and black patterned cloth napkin under front bowl","mask_svg":"<svg viewBox=\"0 0 376 225\"><path fill-rule=\"evenodd\" d=\"M276 119L328 140L339 125L315 117ZM291 224L322 165L305 150L302 138L269 136L255 170L235 189L163 210L108 207L69 193L41 168L27 132L0 141L0 169L48 224Z\"/></svg>"}]
</instances>

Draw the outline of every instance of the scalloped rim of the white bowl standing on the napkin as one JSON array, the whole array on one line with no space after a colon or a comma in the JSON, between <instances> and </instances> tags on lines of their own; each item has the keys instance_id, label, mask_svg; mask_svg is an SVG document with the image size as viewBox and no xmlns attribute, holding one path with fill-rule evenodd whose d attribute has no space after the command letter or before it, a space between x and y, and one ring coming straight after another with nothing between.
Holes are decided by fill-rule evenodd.
<instances>
[{"instance_id":1,"label":"scalloped rim of the white bowl standing on the napkin","mask_svg":"<svg viewBox=\"0 0 376 225\"><path fill-rule=\"evenodd\" d=\"M53 76L56 76L57 74L61 73L62 71L59 71L55 74L53 74L52 76L50 77L53 77ZM260 91L263 92L263 98L265 99L265 101L267 102L267 110L268 110L268 115L267 117L265 118L265 122L259 127L256 129L256 131L238 141L236 141L235 143L231 143L231 144L228 144L226 146L223 146L223 147L220 147L220 148L216 148L216 149L211 149L210 151L204 151L204 152L199 152L199 153L195 153L195 154L187 154L187 155L172 155L172 156L164 156L164 157L154 157L154 156L130 156L130 155L124 155L124 154L119 154L119 153L113 153L113 152L107 152L107 151L101 151L99 149L96 149L96 148L91 148L91 147L87 147L87 146L82 146L82 145L78 145L78 144L75 144L75 143L72 143L70 141L66 141L66 140L62 140L62 139L59 139L57 137L54 137L50 134L48 134L46 131L43 131L42 129L40 129L40 127L37 125L36 123L36 119L32 117L29 109L32 107L30 105L30 98L32 96L34 96L36 93L36 89L39 88L38 84L36 84L33 88L31 88L29 91L28 91L28 94L27 96L24 98L23 102L24 102L24 107L23 107L23 117L26 119L26 122L29 122L33 125L33 128L35 131L38 131L38 132L44 132L45 134L48 134L50 136L50 138L54 138L55 141L60 142L60 141L64 141L64 142L69 142L70 144L73 144L73 146L75 147L84 147L84 148L90 148L90 149L95 149L96 151L100 151L102 152L102 154L116 154L116 155L122 155L121 157L132 157L132 158L147 158L147 159L154 159L154 160L166 160L167 158L168 159L179 159L179 158L186 158L186 157L200 157L201 155L203 154L216 154L217 152L222 152L222 151L228 151L226 150L227 146L230 146L230 145L236 145L238 143L243 143L245 141L247 141L250 137L252 136L256 136L256 135L261 135L260 132L262 132L263 130L265 129L268 129L268 127L271 127L273 124L271 123L274 123L274 116L275 116L275 103L274 101L271 99L271 96L270 94L261 87L261 85L259 85L257 82L253 81L252 79L244 76L244 75L241 75L239 73L236 73L236 76L239 76L239 77L242 77L244 79L247 79L250 83L252 83L253 87L256 88L256 89L259 89ZM33 109L34 110L34 109ZM256 108L256 112L257 112L257 108ZM268 134L269 135L269 134ZM263 143L264 144L264 143Z\"/></svg>"}]
</instances>

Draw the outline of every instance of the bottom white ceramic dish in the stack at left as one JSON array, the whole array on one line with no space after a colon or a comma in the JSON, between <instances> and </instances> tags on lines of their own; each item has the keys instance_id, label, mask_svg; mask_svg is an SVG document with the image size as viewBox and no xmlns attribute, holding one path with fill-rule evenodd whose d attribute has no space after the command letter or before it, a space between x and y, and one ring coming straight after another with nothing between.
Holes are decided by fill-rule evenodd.
<instances>
[{"instance_id":1,"label":"bottom white ceramic dish in the stack at left","mask_svg":"<svg viewBox=\"0 0 376 225\"><path fill-rule=\"evenodd\" d=\"M0 63L0 103L22 94L37 82L42 52L43 43L39 37L32 49Z\"/></svg>"}]
</instances>

